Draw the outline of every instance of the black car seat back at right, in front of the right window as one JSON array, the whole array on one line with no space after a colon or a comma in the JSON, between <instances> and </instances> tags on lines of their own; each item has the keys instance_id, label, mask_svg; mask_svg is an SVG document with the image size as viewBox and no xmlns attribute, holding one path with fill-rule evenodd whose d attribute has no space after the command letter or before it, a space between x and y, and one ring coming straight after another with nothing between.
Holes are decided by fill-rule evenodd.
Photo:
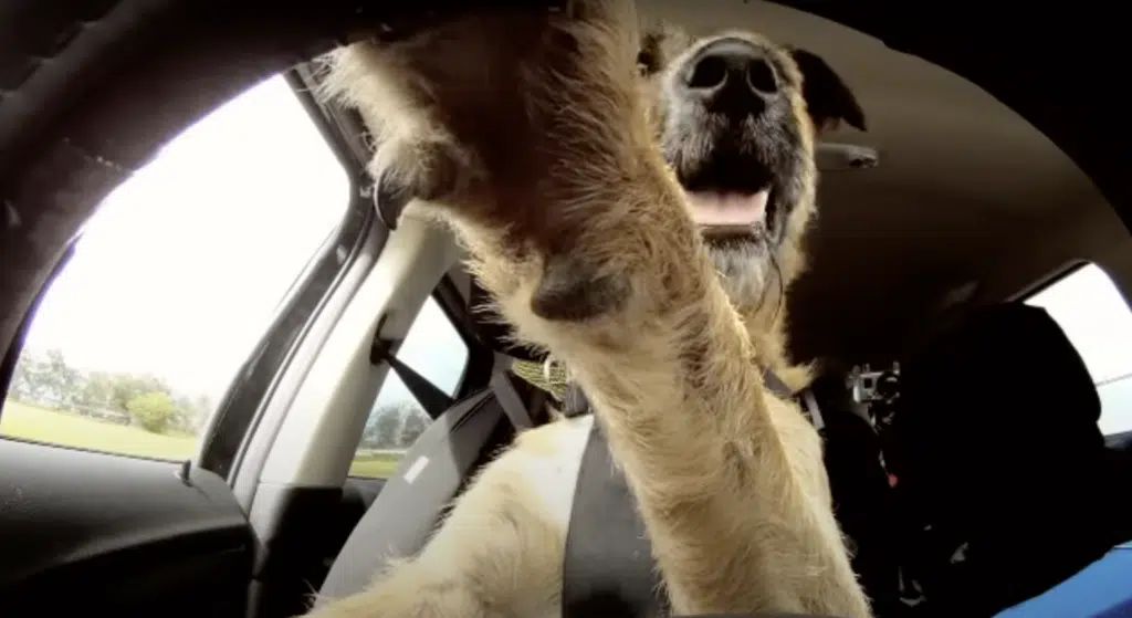
<instances>
[{"instance_id":1,"label":"black car seat back at right, in front of the right window","mask_svg":"<svg viewBox=\"0 0 1132 618\"><path fill-rule=\"evenodd\" d=\"M1096 388L1044 309L980 310L902 362L901 401L891 463L916 551L937 551L931 615L990 616L1126 540Z\"/></svg>"}]
</instances>

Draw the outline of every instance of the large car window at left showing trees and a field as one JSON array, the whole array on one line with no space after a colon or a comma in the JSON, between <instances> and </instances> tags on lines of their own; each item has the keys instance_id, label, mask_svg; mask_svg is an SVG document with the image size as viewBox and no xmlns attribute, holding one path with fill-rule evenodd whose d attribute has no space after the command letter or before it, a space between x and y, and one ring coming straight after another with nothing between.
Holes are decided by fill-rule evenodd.
<instances>
[{"instance_id":1,"label":"large car window at left showing trees and a field","mask_svg":"<svg viewBox=\"0 0 1132 618\"><path fill-rule=\"evenodd\" d=\"M31 321L0 437L194 456L349 200L345 170L282 76L213 111L89 220Z\"/></svg>"}]
</instances>

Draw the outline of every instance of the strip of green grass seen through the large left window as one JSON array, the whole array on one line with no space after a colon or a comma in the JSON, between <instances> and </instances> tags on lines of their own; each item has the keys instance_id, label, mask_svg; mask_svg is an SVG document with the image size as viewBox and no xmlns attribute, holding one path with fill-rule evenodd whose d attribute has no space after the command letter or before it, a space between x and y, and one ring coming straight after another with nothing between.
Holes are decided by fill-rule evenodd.
<instances>
[{"instance_id":1,"label":"strip of green grass seen through the large left window","mask_svg":"<svg viewBox=\"0 0 1132 618\"><path fill-rule=\"evenodd\" d=\"M197 450L195 436L151 434L11 400L0 412L0 436L156 460L188 460Z\"/></svg>"}]
</instances>

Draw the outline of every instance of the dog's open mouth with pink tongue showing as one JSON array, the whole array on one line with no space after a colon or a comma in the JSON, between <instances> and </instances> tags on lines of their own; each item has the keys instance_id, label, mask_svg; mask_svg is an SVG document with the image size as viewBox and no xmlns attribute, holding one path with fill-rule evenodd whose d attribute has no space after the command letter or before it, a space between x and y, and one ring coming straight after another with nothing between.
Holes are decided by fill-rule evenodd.
<instances>
[{"instance_id":1,"label":"dog's open mouth with pink tongue showing","mask_svg":"<svg viewBox=\"0 0 1132 618\"><path fill-rule=\"evenodd\" d=\"M778 223L774 177L754 156L714 156L679 180L707 240L765 240Z\"/></svg>"}]
</instances>

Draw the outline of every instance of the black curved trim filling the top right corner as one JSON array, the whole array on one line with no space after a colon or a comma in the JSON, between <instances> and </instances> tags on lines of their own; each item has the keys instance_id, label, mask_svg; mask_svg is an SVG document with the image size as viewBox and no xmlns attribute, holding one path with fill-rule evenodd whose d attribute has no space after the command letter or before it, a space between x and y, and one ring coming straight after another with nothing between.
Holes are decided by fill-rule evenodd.
<instances>
[{"instance_id":1,"label":"black curved trim filling the top right corner","mask_svg":"<svg viewBox=\"0 0 1132 618\"><path fill-rule=\"evenodd\" d=\"M770 0L856 28L984 88L1077 163L1132 230L1132 127L1113 62L1125 55L1115 5ZM958 33L962 33L958 35ZM1040 54L1040 60L1038 55ZM1052 85L1054 76L1071 79Z\"/></svg>"}]
</instances>

